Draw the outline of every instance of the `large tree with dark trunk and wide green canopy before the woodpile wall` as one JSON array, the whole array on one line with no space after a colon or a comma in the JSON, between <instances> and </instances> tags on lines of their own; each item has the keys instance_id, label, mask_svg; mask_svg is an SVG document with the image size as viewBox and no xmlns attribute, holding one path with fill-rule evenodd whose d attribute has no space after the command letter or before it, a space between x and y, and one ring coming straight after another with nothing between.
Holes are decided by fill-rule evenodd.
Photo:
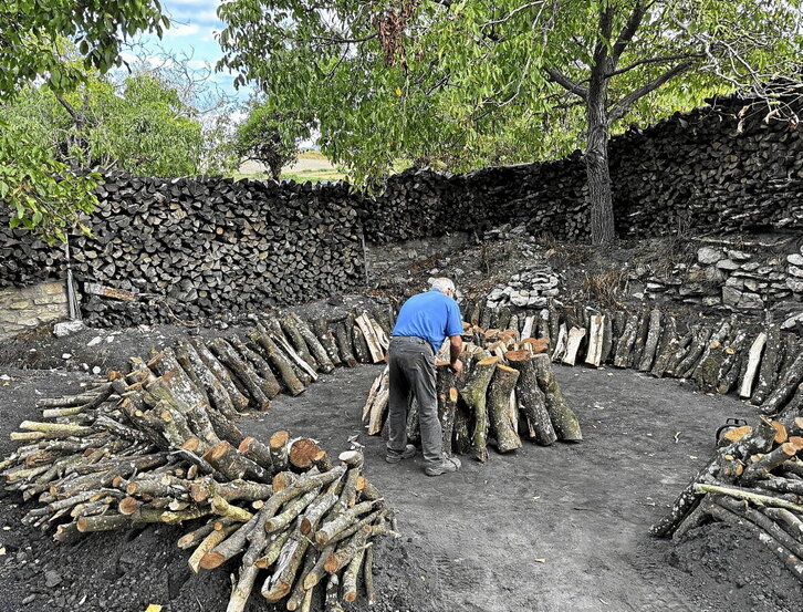
<instances>
[{"instance_id":1,"label":"large tree with dark trunk and wide green canopy before the woodpile wall","mask_svg":"<svg viewBox=\"0 0 803 612\"><path fill-rule=\"evenodd\" d=\"M221 68L320 122L361 180L399 158L583 144L594 243L614 238L612 133L799 71L801 0L232 0ZM761 92L764 93L764 92ZM776 100L770 101L776 105ZM511 151L510 148L508 151Z\"/></svg>"}]
</instances>

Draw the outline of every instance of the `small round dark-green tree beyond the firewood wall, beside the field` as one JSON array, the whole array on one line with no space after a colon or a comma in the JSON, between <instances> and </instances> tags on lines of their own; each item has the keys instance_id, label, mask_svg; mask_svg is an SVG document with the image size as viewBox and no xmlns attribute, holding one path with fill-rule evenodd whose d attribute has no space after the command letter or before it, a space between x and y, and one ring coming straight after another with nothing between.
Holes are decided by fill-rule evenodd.
<instances>
[{"instance_id":1,"label":"small round dark-green tree beyond the firewood wall, beside the field","mask_svg":"<svg viewBox=\"0 0 803 612\"><path fill-rule=\"evenodd\" d=\"M300 113L282 113L270 102L252 98L248 116L233 135L234 153L242 159L264 164L274 180L282 168L299 156L299 143L311 136L311 121Z\"/></svg>"}]
</instances>

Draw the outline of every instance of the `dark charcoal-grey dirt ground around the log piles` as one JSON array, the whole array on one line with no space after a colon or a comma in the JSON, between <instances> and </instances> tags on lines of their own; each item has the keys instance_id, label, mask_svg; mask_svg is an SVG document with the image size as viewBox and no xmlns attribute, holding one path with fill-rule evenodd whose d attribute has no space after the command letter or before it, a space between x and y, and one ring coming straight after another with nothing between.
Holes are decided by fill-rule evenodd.
<instances>
[{"instance_id":1,"label":"dark charcoal-grey dirt ground around the log piles","mask_svg":"<svg viewBox=\"0 0 803 612\"><path fill-rule=\"evenodd\" d=\"M424 475L420 457L386 464L383 440L362 433L359 411L378 366L323 375L241 427L262 438L280 428L314 436L332 453L361 434L366 473L397 510L403 535L377 550L380 601L372 610L800 612L800 583L758 542L718 525L679 546L647 535L711 453L716 428L729 416L753 418L752 408L632 371L556 370L583 443L492 452L486 465L466 459L459 474L439 478ZM36 397L90 378L1 371L0 454L12 446L8 432L35 416ZM19 523L19 504L0 494L0 611L225 610L236 564L192 575L188 553L175 546L187 528L58 544ZM251 598L249 612L271 610L260 600Z\"/></svg>"}]
</instances>

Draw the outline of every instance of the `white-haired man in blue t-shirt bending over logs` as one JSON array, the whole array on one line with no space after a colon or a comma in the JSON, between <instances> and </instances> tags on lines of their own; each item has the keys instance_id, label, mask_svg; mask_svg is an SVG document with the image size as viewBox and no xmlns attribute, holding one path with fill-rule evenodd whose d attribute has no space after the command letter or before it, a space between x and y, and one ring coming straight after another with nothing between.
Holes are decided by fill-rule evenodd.
<instances>
[{"instance_id":1,"label":"white-haired man in blue t-shirt bending over logs","mask_svg":"<svg viewBox=\"0 0 803 612\"><path fill-rule=\"evenodd\" d=\"M440 476L460 469L460 460L444 457L444 440L435 395L435 354L449 336L450 365L462 371L462 321L455 301L455 283L439 278L432 289L407 300L399 310L389 350L388 428L386 460L408 459L416 447L407 444L407 408L410 394L418 402L424 471Z\"/></svg>"}]
</instances>

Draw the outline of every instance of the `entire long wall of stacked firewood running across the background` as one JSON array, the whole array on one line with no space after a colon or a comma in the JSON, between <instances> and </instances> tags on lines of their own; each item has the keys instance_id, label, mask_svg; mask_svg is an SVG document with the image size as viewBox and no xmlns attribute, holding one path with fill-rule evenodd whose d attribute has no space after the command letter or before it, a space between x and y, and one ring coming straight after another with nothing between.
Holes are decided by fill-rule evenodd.
<instances>
[{"instance_id":1,"label":"entire long wall of stacked firewood running across the background","mask_svg":"<svg viewBox=\"0 0 803 612\"><path fill-rule=\"evenodd\" d=\"M803 229L803 127L741 113L739 97L716 104L612 139L619 236ZM363 239L510 222L586 241L585 180L577 152L462 175L410 170L375 198L346 184L109 175L90 221L95 237L72 237L71 260L82 289L109 290L85 294L95 325L237 314L359 287ZM64 278L61 249L7 226L0 218L0 287Z\"/></svg>"}]
</instances>

